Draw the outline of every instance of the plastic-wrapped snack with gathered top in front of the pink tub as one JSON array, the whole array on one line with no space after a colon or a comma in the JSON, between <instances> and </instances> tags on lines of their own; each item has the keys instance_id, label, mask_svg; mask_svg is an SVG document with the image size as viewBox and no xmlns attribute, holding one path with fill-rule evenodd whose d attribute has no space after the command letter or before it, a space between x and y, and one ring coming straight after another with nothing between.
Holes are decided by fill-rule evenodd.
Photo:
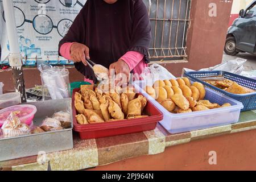
<instances>
[{"instance_id":1,"label":"plastic-wrapped snack with gathered top in front of the pink tub","mask_svg":"<svg viewBox=\"0 0 256 182\"><path fill-rule=\"evenodd\" d=\"M2 133L4 138L19 137L31 134L31 130L28 125L21 123L16 114L12 112L3 123Z\"/></svg>"}]
</instances>

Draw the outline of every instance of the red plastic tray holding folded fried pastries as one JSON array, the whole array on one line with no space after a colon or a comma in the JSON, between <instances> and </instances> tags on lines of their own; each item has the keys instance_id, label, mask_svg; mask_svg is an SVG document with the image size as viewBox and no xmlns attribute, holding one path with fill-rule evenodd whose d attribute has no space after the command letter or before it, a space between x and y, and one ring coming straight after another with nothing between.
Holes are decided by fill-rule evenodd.
<instances>
[{"instance_id":1,"label":"red plastic tray holding folded fried pastries","mask_svg":"<svg viewBox=\"0 0 256 182\"><path fill-rule=\"evenodd\" d=\"M163 119L162 112L157 107L155 107L150 101L148 101L144 111L146 114L150 115L150 117L105 123L93 123L89 125L79 125L79 123L77 123L76 121L77 112L74 104L75 93L79 92L79 90L79 88L73 90L72 109L74 125L73 130L79 133L81 139L110 137L114 135L154 130L156 124Z\"/></svg>"}]
</instances>

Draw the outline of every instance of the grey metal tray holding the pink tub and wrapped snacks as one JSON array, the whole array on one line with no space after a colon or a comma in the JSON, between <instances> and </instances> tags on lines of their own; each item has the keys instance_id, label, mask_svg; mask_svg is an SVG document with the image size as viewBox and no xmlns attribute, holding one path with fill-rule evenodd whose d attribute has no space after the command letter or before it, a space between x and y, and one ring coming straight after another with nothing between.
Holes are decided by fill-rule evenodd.
<instances>
[{"instance_id":1,"label":"grey metal tray holding the pink tub and wrapped snacks","mask_svg":"<svg viewBox=\"0 0 256 182\"><path fill-rule=\"evenodd\" d=\"M71 98L43 102L31 102L37 112L34 125L40 126L43 119L51 117L56 111L68 110L72 113ZM71 119L73 119L71 117ZM73 148L73 123L70 129L51 131L41 134L24 135L0 139L0 161L38 155L39 151L56 152Z\"/></svg>"}]
</instances>

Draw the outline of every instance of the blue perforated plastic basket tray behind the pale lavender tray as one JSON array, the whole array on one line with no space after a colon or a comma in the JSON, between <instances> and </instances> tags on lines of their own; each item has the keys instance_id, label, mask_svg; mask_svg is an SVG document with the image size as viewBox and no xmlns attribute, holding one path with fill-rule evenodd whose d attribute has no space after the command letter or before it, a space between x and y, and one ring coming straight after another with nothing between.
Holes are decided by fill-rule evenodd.
<instances>
[{"instance_id":1,"label":"blue perforated plastic basket tray behind the pale lavender tray","mask_svg":"<svg viewBox=\"0 0 256 182\"><path fill-rule=\"evenodd\" d=\"M236 81L238 84L245 86L247 88L250 88L253 90L256 89L256 80L254 80L253 78L247 78L244 76L236 75L234 73L229 73L225 71L200 71L200 72L185 73L185 76L189 77L192 81L201 82L202 84L204 84L206 87L210 89L213 89L221 94L224 94L230 98L233 98L234 100L242 102L244 107L241 111L256 109L256 92L247 93L247 94L233 94L198 79L200 77L209 77L209 76L217 76L217 75L222 75L224 78L227 78L232 81Z\"/></svg>"}]
</instances>

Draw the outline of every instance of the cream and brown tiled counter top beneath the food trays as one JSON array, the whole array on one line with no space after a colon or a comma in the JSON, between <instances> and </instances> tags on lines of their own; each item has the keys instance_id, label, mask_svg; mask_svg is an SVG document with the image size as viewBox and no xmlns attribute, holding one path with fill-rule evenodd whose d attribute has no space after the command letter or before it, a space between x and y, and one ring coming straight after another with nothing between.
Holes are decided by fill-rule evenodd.
<instances>
[{"instance_id":1,"label":"cream and brown tiled counter top beneath the food trays","mask_svg":"<svg viewBox=\"0 0 256 182\"><path fill-rule=\"evenodd\" d=\"M100 139L80 140L74 134L74 148L47 154L46 159L49 162L46 164L39 164L37 156L31 156L0 162L0 170L81 170L105 166L129 158L136 159L138 156L150 159L152 155L168 152L168 148L172 146L253 129L256 129L256 111L241 113L240 121L233 125L181 134L169 134L161 125L152 131Z\"/></svg>"}]
</instances>

